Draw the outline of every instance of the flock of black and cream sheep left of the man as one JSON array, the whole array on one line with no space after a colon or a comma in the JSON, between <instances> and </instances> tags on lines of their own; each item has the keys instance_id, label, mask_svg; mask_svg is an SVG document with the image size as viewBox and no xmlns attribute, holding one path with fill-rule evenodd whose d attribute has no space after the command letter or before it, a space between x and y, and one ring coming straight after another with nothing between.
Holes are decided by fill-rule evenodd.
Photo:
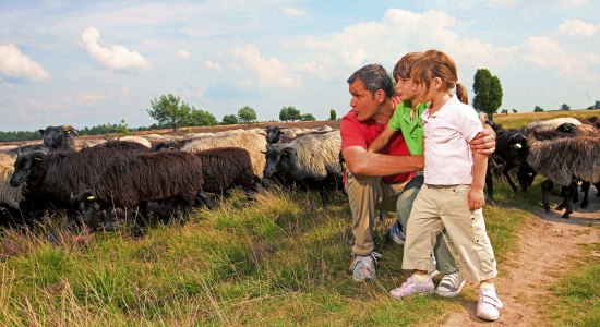
<instances>
[{"instance_id":1,"label":"flock of black and cream sheep left of the man","mask_svg":"<svg viewBox=\"0 0 600 327\"><path fill-rule=\"evenodd\" d=\"M277 182L285 189L319 185L325 194L341 180L339 131L329 126L96 141L76 137L70 125L40 133L43 143L0 147L4 225L65 210L72 228L104 220L104 229L113 230L116 213L136 209L132 231L143 235L155 210L166 207L165 222L179 217L183 223L193 206L212 207L206 193L227 196L241 186L253 201L259 186ZM274 152L285 155L275 159Z\"/></svg>"}]
</instances>

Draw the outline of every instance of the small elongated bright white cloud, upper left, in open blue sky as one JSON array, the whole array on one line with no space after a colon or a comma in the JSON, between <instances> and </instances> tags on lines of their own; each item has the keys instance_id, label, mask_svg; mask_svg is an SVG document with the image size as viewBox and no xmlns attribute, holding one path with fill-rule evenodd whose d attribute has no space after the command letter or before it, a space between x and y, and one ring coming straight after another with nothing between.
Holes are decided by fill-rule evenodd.
<instances>
[{"instance_id":1,"label":"small elongated bright white cloud, upper left, in open blue sky","mask_svg":"<svg viewBox=\"0 0 600 327\"><path fill-rule=\"evenodd\" d=\"M110 49L103 48L98 40L100 33L96 27L87 27L81 34L81 47L84 48L89 56L113 70L137 69L147 71L152 69L152 64L137 51L130 51L128 48L119 45L113 45Z\"/></svg>"}]
</instances>

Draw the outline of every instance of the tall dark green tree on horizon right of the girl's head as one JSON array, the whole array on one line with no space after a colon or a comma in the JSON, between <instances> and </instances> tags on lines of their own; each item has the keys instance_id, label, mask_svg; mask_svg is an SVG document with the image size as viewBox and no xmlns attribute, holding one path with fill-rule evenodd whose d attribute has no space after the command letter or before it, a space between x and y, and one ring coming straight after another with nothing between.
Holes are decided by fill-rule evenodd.
<instances>
[{"instance_id":1,"label":"tall dark green tree on horizon right of the girl's head","mask_svg":"<svg viewBox=\"0 0 600 327\"><path fill-rule=\"evenodd\" d=\"M493 121L493 114L502 105L502 85L496 76L492 76L487 69L479 69L475 73L473 108L488 113Z\"/></svg>"}]
</instances>

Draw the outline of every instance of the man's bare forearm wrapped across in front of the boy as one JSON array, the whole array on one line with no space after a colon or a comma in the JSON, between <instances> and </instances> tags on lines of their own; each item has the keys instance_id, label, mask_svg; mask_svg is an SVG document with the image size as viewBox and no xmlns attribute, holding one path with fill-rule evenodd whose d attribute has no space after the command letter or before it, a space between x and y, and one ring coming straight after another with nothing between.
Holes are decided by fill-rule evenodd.
<instances>
[{"instance_id":1,"label":"man's bare forearm wrapped across in front of the boy","mask_svg":"<svg viewBox=\"0 0 600 327\"><path fill-rule=\"evenodd\" d=\"M341 153L346 166L357 175L391 175L422 170L423 156L389 156L369 153L360 146L348 146Z\"/></svg>"}]
</instances>

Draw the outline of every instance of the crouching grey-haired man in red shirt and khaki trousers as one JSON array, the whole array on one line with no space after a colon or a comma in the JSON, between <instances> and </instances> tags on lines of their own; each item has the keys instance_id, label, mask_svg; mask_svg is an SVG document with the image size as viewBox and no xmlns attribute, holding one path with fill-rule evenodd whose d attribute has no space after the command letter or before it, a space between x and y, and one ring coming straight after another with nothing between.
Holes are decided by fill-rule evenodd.
<instances>
[{"instance_id":1,"label":"crouching grey-haired man in red shirt and khaki trousers","mask_svg":"<svg viewBox=\"0 0 600 327\"><path fill-rule=\"evenodd\" d=\"M341 153L348 173L346 192L352 211L355 259L350 268L357 281L374 279L375 258L373 226L379 209L395 211L397 201L407 183L424 167L422 155L410 156L401 133L396 133L380 154L368 152L369 145L380 135L394 114L399 99L385 69L368 64L349 78L352 97L350 110L340 124ZM495 135L485 129L487 135L472 142L472 149L493 153ZM412 197L413 198L413 197Z\"/></svg>"}]
</instances>

